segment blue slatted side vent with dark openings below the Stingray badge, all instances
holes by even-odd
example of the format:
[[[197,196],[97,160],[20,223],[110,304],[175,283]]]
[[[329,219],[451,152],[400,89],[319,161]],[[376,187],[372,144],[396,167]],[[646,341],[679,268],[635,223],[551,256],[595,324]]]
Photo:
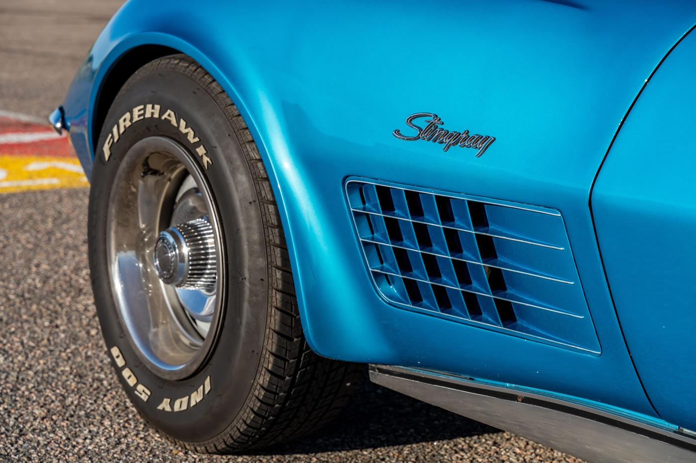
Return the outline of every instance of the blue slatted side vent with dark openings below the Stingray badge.
[[[391,304],[599,355],[555,209],[358,179],[346,193]]]

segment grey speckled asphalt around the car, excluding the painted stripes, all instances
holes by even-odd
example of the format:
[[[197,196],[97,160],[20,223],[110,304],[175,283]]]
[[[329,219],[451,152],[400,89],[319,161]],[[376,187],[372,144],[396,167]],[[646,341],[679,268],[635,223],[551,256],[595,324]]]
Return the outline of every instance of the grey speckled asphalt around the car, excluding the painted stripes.
[[[3,0],[0,115],[45,117],[60,104],[119,4]],[[0,171],[2,155],[0,144]],[[366,380],[332,425],[264,453],[173,446],[138,416],[111,370],[89,283],[88,189],[73,186],[0,194],[1,461],[580,461]]]

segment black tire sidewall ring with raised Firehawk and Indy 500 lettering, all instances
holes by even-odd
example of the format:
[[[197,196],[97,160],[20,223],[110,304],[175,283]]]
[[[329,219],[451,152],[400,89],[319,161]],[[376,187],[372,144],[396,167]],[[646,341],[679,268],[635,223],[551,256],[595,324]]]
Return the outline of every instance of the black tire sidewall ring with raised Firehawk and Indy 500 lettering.
[[[153,108],[159,105],[159,117],[152,113],[151,117],[139,119],[139,106],[143,106],[144,111],[148,104]],[[221,101],[191,75],[146,65],[120,90],[106,116],[97,141],[90,186],[90,273],[111,363],[141,414],[170,437],[189,442],[214,439],[244,409],[247,397],[253,393],[251,387],[255,384],[264,345],[267,249],[257,187],[242,144],[230,124],[236,113],[234,106],[230,106],[222,106]],[[171,117],[163,118],[168,111],[173,113],[176,124]],[[126,114],[130,114],[129,120],[138,120],[121,131],[119,122]],[[195,137],[180,129],[181,120],[185,120]],[[118,131],[116,142],[113,142],[113,127]],[[207,363],[197,373],[180,381],[164,380],[141,362],[120,322],[107,263],[107,204],[116,172],[129,148],[147,136],[164,136],[177,141],[198,163],[216,204],[225,242],[227,284],[223,291],[219,336]],[[102,147],[109,137],[113,143],[107,160]],[[191,138],[197,140],[192,143]],[[201,146],[209,162],[197,154]],[[118,348],[125,364],[117,362],[114,347]],[[129,373],[124,373],[126,368],[136,378],[135,384]],[[147,400],[143,400],[139,384],[150,391]],[[191,394],[200,392],[201,387],[205,391],[203,400],[190,406]],[[186,407],[182,407],[187,397]],[[169,399],[168,407],[164,406],[166,399]],[[177,400],[179,409],[175,411]]]

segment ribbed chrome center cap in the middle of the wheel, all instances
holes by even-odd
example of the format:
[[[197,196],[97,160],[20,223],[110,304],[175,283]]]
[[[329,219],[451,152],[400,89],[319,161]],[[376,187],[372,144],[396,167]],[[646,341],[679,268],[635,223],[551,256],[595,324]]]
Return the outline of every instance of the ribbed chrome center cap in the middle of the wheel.
[[[216,281],[213,230],[205,219],[169,227],[159,234],[154,252],[159,279],[179,288],[212,290]]]

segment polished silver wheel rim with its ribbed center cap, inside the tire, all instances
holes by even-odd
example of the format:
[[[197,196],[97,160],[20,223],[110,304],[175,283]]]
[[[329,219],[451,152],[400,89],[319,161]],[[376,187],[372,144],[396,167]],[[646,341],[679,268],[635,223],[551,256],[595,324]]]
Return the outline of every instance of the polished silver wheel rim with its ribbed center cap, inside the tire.
[[[216,341],[225,287],[209,186],[193,156],[159,136],[128,150],[113,185],[106,240],[119,318],[152,371],[189,377]]]

